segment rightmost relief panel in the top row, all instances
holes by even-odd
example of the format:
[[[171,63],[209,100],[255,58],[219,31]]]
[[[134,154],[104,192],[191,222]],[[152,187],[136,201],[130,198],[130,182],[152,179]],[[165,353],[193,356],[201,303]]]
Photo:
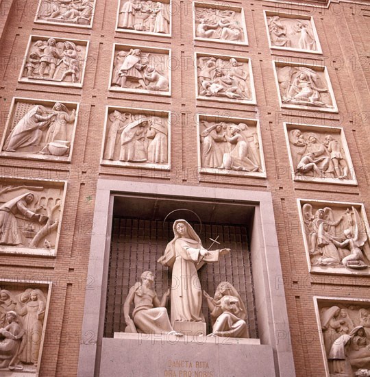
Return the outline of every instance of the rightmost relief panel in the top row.
[[[312,16],[264,11],[271,49],[322,53]]]

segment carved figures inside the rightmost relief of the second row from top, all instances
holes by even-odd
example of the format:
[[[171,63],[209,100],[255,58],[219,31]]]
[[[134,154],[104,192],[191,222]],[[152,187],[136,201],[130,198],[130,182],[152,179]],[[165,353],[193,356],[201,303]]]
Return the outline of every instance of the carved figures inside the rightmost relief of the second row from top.
[[[284,104],[333,108],[326,83],[313,69],[302,66],[284,66],[277,71],[280,93]]]

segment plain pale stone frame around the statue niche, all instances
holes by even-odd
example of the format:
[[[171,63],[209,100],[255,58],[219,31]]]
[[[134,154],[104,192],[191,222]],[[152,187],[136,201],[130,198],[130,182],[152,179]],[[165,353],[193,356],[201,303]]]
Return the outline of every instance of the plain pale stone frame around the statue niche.
[[[97,182],[94,228],[88,263],[89,284],[86,286],[77,376],[99,376],[113,202],[114,195],[120,194],[127,197],[153,195],[177,200],[186,197],[188,200],[208,199],[223,203],[237,201],[240,205],[255,207],[254,220],[250,228],[250,252],[255,277],[254,293],[260,341],[262,345],[269,345],[273,351],[275,375],[295,376],[271,193],[103,179]]]

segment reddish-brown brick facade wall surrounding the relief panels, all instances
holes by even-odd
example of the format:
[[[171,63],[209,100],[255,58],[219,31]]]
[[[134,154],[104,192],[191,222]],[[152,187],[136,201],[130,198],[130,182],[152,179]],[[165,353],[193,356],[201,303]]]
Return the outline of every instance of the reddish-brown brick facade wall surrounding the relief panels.
[[[211,2],[211,1],[210,1]],[[68,182],[56,257],[0,255],[1,278],[53,282],[40,376],[75,376],[87,276],[90,237],[99,178],[268,191],[273,197],[282,277],[297,376],[325,376],[313,296],[370,299],[368,276],[312,274],[308,271],[297,199],[363,203],[370,212],[370,6],[366,2],[223,1],[243,7],[248,46],[194,40],[190,1],[172,3],[172,35],[116,32],[117,1],[96,0],[92,28],[34,23],[38,0],[0,3],[0,132],[13,97],[79,103],[71,162],[0,158],[0,175]],[[313,16],[322,54],[269,48],[264,10]],[[30,35],[88,40],[82,88],[18,82]],[[114,43],[171,49],[171,96],[109,90]],[[195,52],[247,57],[257,104],[204,101],[195,97]],[[280,108],[273,61],[326,66],[338,112]],[[171,169],[100,165],[106,106],[171,112]],[[199,173],[197,114],[258,119],[267,178]],[[342,127],[358,184],[293,182],[284,122]],[[86,340],[86,339],[85,339]],[[221,376],[220,376],[221,377]],[[223,377],[223,376],[222,376]]]

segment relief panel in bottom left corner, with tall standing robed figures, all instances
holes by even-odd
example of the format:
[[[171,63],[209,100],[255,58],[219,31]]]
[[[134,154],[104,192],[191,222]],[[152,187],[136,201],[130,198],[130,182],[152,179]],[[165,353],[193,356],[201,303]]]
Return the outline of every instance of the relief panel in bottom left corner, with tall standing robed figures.
[[[51,284],[0,281],[0,374],[37,376]]]

